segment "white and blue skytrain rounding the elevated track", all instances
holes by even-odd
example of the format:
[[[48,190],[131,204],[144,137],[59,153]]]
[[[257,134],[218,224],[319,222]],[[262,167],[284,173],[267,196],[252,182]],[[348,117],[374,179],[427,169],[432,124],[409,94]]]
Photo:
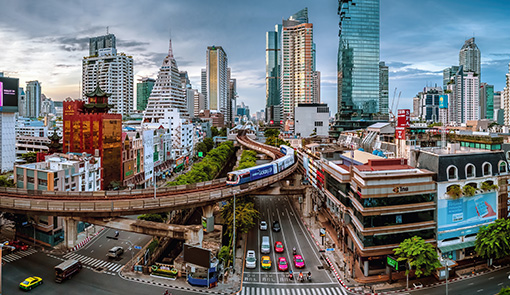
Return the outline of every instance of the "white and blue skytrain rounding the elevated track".
[[[227,174],[227,185],[240,185],[264,177],[275,175],[294,164],[294,149],[282,145],[280,151],[285,155],[268,164],[232,171]]]

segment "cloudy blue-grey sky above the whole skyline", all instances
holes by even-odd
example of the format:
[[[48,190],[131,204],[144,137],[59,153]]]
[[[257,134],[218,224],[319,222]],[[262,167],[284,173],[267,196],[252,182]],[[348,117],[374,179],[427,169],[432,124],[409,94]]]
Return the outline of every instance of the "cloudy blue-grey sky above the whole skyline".
[[[156,77],[172,38],[180,70],[200,89],[207,46],[223,46],[239,101],[252,112],[265,105],[265,32],[308,7],[322,75],[322,101],[336,112],[337,0],[0,0],[0,72],[39,80],[55,100],[79,97],[81,60],[88,38],[117,37],[132,55],[135,80]],[[458,65],[458,51],[475,36],[482,52],[482,80],[502,90],[510,62],[510,1],[381,0],[381,60],[390,66],[399,108],[425,86],[442,83],[442,69]]]

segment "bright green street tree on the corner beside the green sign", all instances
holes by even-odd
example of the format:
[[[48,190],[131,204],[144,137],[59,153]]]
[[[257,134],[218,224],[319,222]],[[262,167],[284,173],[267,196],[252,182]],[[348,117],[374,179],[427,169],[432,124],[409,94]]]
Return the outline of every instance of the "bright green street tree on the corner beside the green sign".
[[[405,239],[398,248],[393,249],[393,252],[395,252],[398,261],[406,262],[408,280],[411,269],[414,269],[416,276],[420,277],[422,274],[428,276],[441,267],[434,246],[418,236]]]

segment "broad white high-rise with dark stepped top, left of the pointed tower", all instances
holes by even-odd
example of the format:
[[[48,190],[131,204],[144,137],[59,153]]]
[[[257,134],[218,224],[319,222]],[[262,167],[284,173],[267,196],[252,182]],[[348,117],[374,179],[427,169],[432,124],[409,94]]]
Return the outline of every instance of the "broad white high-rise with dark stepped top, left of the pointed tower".
[[[96,38],[108,36],[110,35]],[[90,48],[90,52],[97,51],[97,54],[83,58],[82,94],[85,96],[93,92],[99,85],[101,89],[111,93],[109,98],[109,102],[113,105],[111,111],[128,116],[133,112],[133,58],[124,53],[117,53],[115,36],[106,38],[105,40],[110,41],[103,43],[93,39],[91,38],[91,45],[97,45],[98,48]],[[101,47],[103,45],[104,47]]]

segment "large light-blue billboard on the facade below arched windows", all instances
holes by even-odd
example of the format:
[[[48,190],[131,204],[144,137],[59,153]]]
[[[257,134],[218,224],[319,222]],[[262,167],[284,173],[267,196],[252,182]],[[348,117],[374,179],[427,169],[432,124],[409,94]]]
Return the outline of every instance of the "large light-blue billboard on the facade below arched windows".
[[[479,226],[498,218],[497,193],[488,192],[456,200],[437,201],[438,240],[478,232]]]

